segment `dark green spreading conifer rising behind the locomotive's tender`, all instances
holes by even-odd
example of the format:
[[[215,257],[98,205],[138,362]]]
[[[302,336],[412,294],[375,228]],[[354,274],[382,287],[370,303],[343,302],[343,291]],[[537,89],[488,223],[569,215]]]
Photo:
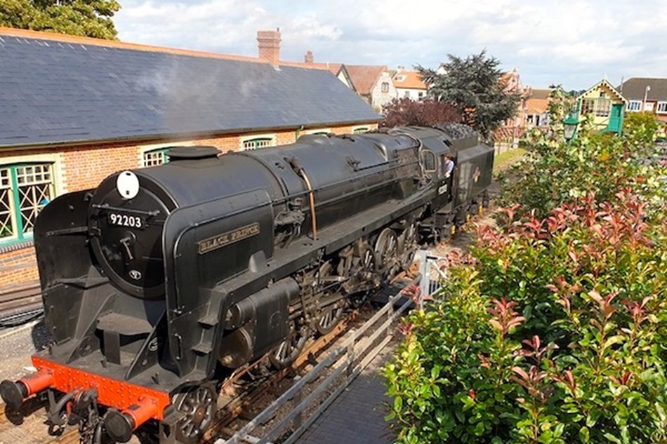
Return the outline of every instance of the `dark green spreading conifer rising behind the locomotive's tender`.
[[[417,67],[429,86],[428,94],[453,104],[463,116],[463,123],[488,138],[503,121],[515,115],[520,95],[505,90],[499,62],[487,57],[485,50],[465,59],[451,54],[448,57],[449,62],[442,64],[444,74]]]

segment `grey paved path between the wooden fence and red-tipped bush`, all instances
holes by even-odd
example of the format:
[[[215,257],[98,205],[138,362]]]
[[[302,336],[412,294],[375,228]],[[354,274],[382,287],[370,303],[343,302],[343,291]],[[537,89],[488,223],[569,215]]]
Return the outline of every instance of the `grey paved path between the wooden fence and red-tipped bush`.
[[[329,408],[303,433],[297,444],[390,444],[393,433],[383,417],[389,398],[380,368],[387,361],[391,344],[341,393]]]

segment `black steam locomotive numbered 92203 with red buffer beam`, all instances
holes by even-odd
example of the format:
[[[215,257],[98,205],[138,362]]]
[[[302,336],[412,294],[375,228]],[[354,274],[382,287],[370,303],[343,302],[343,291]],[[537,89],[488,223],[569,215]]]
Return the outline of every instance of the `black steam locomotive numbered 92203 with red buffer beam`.
[[[456,161],[444,170],[444,155]],[[65,194],[34,231],[47,350],[4,381],[18,408],[48,396],[52,426],[126,442],[143,424],[194,443],[219,368],[289,365],[350,301],[486,203],[494,151],[463,126],[400,128],[170,161]]]

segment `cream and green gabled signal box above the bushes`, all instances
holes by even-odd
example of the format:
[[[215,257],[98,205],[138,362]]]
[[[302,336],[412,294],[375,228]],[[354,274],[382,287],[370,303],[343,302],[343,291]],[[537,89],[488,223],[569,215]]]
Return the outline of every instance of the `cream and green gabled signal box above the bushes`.
[[[621,134],[626,105],[626,97],[607,79],[602,79],[576,97],[576,114],[573,117],[581,121],[584,116],[588,116],[593,120],[595,130]]]

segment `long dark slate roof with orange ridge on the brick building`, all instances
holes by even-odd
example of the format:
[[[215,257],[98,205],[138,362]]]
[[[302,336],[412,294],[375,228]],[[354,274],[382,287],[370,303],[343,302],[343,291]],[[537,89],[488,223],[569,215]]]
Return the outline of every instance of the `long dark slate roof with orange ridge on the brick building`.
[[[0,147],[381,119],[322,69],[0,28]]]

